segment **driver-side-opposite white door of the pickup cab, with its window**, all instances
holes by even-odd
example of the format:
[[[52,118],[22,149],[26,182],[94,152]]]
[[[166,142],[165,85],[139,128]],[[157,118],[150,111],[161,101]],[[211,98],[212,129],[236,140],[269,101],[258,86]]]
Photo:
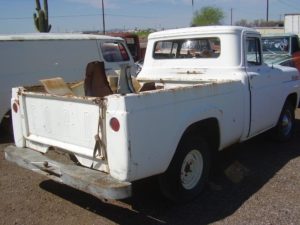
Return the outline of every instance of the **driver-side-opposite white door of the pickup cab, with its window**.
[[[245,38],[246,71],[250,89],[250,131],[254,136],[274,126],[280,113],[280,71],[262,62],[259,36]]]

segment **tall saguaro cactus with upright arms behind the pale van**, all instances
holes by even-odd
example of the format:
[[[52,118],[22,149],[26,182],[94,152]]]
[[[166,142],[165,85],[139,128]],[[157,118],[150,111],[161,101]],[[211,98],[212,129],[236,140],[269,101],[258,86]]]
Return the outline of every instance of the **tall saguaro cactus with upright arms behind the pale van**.
[[[37,13],[33,14],[33,20],[36,29],[39,32],[48,33],[51,30],[51,25],[48,20],[48,2],[44,0],[44,9],[41,9],[40,0],[35,0]]]

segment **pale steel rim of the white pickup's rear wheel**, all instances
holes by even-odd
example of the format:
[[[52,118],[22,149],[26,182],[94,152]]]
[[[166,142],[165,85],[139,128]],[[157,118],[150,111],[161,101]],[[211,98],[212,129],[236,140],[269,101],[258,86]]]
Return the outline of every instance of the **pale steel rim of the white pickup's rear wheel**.
[[[190,151],[184,158],[181,166],[181,184],[182,186],[190,190],[194,188],[203,172],[203,157],[198,150]]]

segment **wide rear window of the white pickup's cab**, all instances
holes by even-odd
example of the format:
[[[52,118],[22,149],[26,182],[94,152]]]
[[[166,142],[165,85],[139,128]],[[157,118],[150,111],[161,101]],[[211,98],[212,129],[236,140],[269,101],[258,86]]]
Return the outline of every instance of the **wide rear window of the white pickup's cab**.
[[[218,58],[221,43],[217,37],[158,41],[154,45],[154,59]]]

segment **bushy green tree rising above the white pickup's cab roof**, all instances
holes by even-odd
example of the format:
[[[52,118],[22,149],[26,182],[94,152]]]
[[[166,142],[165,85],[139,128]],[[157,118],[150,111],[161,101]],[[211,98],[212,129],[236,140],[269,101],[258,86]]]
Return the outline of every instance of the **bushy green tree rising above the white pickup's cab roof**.
[[[224,12],[217,7],[203,7],[194,13],[192,26],[219,25],[224,19]]]

